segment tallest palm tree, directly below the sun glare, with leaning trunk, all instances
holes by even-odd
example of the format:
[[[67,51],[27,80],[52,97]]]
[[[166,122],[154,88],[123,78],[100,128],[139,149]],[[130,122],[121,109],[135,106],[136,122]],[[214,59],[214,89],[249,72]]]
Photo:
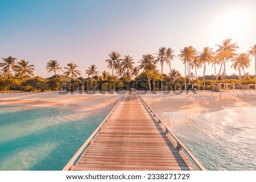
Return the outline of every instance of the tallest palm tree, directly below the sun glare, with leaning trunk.
[[[222,66],[224,67],[224,69],[222,72],[221,81],[223,80],[224,77],[226,78],[226,62],[234,57],[235,55],[234,52],[236,51],[236,49],[239,48],[237,46],[237,43],[231,43],[231,41],[232,39],[225,39],[224,41],[222,41],[222,45],[216,45],[218,46],[218,49],[216,50],[216,52],[217,52],[217,56],[221,60],[221,67],[220,67],[220,70],[218,71],[218,75],[215,79],[214,85],[217,83],[218,78],[220,77]],[[214,91],[214,85],[213,85],[212,91]]]

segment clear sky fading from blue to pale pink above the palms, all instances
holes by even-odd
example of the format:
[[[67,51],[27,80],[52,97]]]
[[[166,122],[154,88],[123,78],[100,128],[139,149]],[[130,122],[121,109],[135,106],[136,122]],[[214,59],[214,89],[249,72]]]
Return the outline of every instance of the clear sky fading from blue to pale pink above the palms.
[[[162,46],[177,56],[185,46],[216,50],[232,38],[243,53],[256,44],[255,10],[255,0],[0,0],[0,57],[29,61],[44,78],[53,75],[46,71],[49,60],[62,67],[74,62],[86,78],[92,64],[111,72],[105,60],[112,51],[138,65],[143,54],[155,55]],[[230,66],[227,74],[238,74]],[[178,57],[172,68],[184,74]],[[213,67],[206,72],[213,74]],[[254,61],[246,72],[255,74]],[[170,73],[167,65],[163,73]]]

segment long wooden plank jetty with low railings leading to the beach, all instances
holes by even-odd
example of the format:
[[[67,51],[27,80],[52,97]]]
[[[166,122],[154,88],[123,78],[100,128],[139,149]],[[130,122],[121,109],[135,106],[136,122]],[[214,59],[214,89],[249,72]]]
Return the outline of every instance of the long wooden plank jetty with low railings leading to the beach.
[[[141,96],[130,93],[118,101],[63,170],[196,169],[205,170]]]

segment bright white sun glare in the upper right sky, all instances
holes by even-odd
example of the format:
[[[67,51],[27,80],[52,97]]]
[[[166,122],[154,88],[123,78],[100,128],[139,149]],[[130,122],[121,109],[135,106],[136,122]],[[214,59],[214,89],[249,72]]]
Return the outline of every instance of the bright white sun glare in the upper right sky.
[[[229,11],[217,17],[212,27],[212,39],[240,40],[250,31],[250,16],[246,11]]]

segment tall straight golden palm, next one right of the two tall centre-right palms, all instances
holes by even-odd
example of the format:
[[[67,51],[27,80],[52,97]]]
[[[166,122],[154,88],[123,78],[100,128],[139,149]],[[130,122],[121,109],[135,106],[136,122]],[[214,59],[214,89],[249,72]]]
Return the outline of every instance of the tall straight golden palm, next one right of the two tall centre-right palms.
[[[193,60],[193,58],[196,56],[196,49],[192,46],[186,46],[184,49],[180,50],[180,53],[178,57],[183,61],[183,64],[185,65],[185,90],[187,90],[186,87],[186,69],[188,70],[188,75],[190,75],[190,62]],[[187,64],[187,67],[186,67]],[[190,78],[188,76],[188,85],[190,84]]]

